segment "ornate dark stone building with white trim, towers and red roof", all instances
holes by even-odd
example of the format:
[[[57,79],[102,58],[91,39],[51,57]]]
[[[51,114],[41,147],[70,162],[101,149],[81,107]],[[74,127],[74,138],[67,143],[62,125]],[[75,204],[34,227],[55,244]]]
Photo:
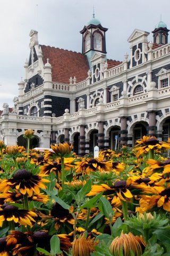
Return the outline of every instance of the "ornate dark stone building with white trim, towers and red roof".
[[[40,45],[30,31],[30,56],[25,78],[18,83],[13,111],[0,117],[1,140],[23,145],[32,129],[31,147],[73,143],[84,155],[126,145],[143,135],[170,137],[170,44],[160,21],[149,33],[135,29],[128,38],[124,61],[107,59],[107,28],[93,17],[80,31],[82,53]]]

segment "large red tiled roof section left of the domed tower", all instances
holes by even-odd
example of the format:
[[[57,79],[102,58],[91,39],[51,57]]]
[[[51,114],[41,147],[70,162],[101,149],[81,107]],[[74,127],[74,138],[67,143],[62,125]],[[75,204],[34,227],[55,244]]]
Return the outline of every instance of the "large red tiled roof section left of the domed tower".
[[[52,82],[69,84],[70,77],[75,76],[79,83],[88,77],[89,65],[86,55],[51,46],[40,46],[44,65],[47,59],[52,65]]]

